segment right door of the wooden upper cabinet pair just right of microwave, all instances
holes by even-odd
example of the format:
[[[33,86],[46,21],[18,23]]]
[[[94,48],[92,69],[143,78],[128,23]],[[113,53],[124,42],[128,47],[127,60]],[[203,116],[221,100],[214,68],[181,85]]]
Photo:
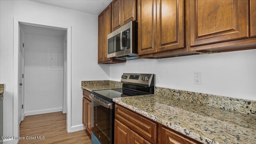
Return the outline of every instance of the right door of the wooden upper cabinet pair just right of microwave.
[[[184,0],[158,0],[157,52],[184,48]]]

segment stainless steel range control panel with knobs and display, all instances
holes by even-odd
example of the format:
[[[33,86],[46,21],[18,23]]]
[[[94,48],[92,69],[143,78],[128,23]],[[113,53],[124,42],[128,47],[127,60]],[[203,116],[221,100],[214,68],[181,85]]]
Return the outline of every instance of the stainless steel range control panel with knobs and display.
[[[121,77],[121,82],[125,84],[134,84],[150,87],[154,84],[154,74],[127,74]]]

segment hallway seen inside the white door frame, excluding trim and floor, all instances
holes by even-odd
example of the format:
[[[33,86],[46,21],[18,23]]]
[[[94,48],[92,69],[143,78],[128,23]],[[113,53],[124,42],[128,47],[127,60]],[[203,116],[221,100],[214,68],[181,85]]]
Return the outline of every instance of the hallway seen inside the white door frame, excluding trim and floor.
[[[67,31],[20,24],[19,124],[25,116],[66,114]]]

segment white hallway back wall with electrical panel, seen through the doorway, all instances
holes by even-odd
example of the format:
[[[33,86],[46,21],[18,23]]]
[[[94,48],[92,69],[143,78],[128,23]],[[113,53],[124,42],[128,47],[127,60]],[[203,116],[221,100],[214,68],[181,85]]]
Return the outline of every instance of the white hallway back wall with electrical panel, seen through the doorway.
[[[26,34],[25,115],[62,111],[64,38]],[[58,70],[50,68],[49,47],[59,49]]]

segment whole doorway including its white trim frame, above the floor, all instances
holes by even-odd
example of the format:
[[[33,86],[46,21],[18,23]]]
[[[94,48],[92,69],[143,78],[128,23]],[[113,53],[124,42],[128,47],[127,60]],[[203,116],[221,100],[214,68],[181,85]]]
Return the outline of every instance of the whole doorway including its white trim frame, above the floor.
[[[51,112],[71,132],[71,26],[14,18],[13,44],[13,136],[25,116]]]

